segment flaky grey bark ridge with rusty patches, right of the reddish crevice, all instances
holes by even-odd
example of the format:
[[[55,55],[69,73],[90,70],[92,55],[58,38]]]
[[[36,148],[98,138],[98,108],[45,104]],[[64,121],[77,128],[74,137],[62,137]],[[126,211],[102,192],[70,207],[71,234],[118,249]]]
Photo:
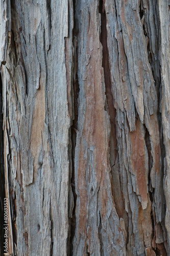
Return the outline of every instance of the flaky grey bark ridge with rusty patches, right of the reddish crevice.
[[[147,59],[148,56],[145,57],[143,54],[147,49],[147,39],[145,38],[145,35],[144,37],[142,35],[143,11],[139,10],[137,1],[134,4],[129,1],[126,3],[118,1],[112,1],[112,3],[109,3],[109,1],[105,1],[105,9],[107,18],[111,81],[113,84],[112,92],[114,95],[117,112],[116,120],[118,128],[117,141],[119,148],[118,153],[120,164],[120,180],[125,199],[125,208],[129,217],[130,214],[128,210],[128,202],[130,202],[132,211],[132,220],[129,219],[127,227],[130,227],[132,221],[132,225],[137,228],[136,221],[138,220],[138,236],[136,234],[133,236],[133,232],[131,232],[129,229],[130,233],[128,236],[129,242],[127,244],[127,250],[129,251],[131,248],[131,252],[129,251],[129,253],[142,253],[145,247],[145,253],[149,253],[149,251],[152,253],[153,249],[155,249],[155,246],[160,248],[162,247],[161,243],[165,242],[166,238],[163,238],[165,236],[165,233],[162,230],[163,227],[159,227],[160,230],[162,230],[161,239],[158,239],[160,234],[157,233],[157,227],[160,226],[159,222],[162,221],[163,225],[164,217],[163,213],[161,215],[160,212],[162,207],[164,207],[164,196],[161,189],[162,167],[159,145],[159,124],[157,119],[157,91],[155,90],[155,85],[153,82],[152,69]],[[131,19],[130,13],[132,17]],[[141,33],[141,35],[134,37],[135,33]],[[140,56],[137,53],[139,51],[141,51]],[[133,70],[133,67],[135,67],[136,63],[138,63],[139,73],[137,73],[137,70]],[[150,77],[148,82],[150,84],[151,79],[152,91],[148,90],[150,86],[148,87],[147,85],[148,78],[145,78],[147,76],[144,74],[144,67],[147,67],[147,76]],[[135,73],[134,76],[133,72]],[[135,80],[136,86],[134,87]],[[125,97],[128,91],[129,96]],[[138,95],[137,97],[136,93]],[[141,94],[143,94],[142,100]],[[131,100],[131,103],[129,100]],[[135,109],[137,110],[137,116],[134,115]],[[131,115],[129,113],[131,113]],[[132,118],[128,118],[128,115]],[[134,121],[134,117],[136,121]],[[144,141],[145,127],[143,127],[143,123],[147,126],[147,130],[151,138],[151,150],[153,154],[153,166],[151,168],[151,180],[155,189],[155,193],[153,194],[153,205],[149,198],[149,156],[147,145],[145,144],[146,141]],[[158,138],[156,138],[155,134],[158,136]],[[142,157],[142,155],[144,157]],[[125,185],[125,180],[127,179],[128,186]],[[131,204],[133,200],[136,201],[135,204]],[[153,210],[156,212],[154,219],[156,226],[154,241],[156,239],[157,245],[154,244],[154,248],[152,248],[153,231],[151,221],[151,207],[153,207]],[[138,217],[136,221],[134,221],[134,216],[137,215]],[[146,225],[146,222],[144,221],[145,218],[148,220],[148,225]],[[148,229],[147,232],[143,232],[144,229]],[[135,248],[132,249],[133,243]],[[164,251],[164,249],[162,249],[162,251]]]

